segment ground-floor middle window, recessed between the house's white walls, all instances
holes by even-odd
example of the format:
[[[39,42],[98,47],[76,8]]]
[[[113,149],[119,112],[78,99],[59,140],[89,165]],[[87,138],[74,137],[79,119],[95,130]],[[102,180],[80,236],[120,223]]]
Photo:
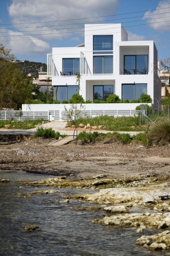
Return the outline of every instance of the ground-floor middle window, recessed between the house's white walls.
[[[113,94],[113,85],[94,85],[93,99],[106,100],[110,94]]]

